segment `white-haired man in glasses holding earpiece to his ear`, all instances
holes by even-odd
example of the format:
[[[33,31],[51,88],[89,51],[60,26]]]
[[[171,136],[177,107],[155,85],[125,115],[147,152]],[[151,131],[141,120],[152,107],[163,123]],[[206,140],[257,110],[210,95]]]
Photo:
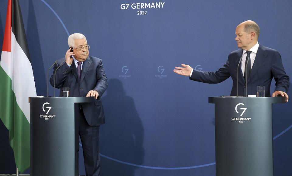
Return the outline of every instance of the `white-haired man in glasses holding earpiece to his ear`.
[[[81,103],[79,106],[79,136],[82,142],[85,172],[87,176],[99,176],[99,126],[105,123],[103,105],[100,97],[107,88],[107,78],[103,62],[97,57],[89,56],[89,45],[83,34],[74,33],[68,37],[65,58],[57,61],[50,83],[55,87],[70,88],[71,97],[95,97],[92,103]],[[72,57],[71,57],[72,56]],[[60,64],[65,60],[65,63]],[[60,68],[57,70],[57,67]]]

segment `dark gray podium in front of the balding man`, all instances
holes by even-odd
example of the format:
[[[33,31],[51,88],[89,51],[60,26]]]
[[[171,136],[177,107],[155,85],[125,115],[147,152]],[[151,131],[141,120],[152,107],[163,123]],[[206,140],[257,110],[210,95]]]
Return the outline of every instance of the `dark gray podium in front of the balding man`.
[[[285,97],[209,97],[216,176],[273,176],[272,104]]]

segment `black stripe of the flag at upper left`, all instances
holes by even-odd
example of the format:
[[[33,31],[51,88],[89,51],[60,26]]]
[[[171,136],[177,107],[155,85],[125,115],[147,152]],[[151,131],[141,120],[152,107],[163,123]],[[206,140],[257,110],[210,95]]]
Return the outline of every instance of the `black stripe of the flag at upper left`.
[[[22,48],[28,60],[30,60],[30,52],[27,46],[25,30],[23,26],[23,19],[21,15],[20,5],[18,0],[12,0],[12,19],[11,19],[12,33],[14,34],[17,43]]]

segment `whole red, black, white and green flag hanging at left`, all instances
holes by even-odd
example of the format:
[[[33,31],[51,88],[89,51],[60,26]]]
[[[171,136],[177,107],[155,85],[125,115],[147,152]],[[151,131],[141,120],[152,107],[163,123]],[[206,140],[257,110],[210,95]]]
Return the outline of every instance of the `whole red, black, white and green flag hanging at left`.
[[[30,105],[36,97],[33,70],[18,0],[8,0],[0,60],[0,118],[9,130],[17,168],[30,167]]]

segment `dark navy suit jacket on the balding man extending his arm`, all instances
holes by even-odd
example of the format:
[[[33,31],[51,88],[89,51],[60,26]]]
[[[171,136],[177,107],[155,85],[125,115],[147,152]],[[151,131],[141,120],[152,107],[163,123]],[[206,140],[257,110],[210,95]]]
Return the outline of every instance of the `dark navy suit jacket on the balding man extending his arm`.
[[[231,76],[233,85],[230,95],[237,95],[237,66],[242,57],[242,49],[231,52],[228,60],[222,68],[216,72],[193,70],[189,78],[204,83],[220,83]],[[245,95],[245,79],[241,70],[238,69],[238,95]],[[272,79],[276,81],[275,91],[288,91],[289,76],[286,74],[280,53],[274,49],[259,45],[249,78],[247,79],[248,95],[256,95],[256,86],[265,86],[265,96],[270,97],[270,85]]]

